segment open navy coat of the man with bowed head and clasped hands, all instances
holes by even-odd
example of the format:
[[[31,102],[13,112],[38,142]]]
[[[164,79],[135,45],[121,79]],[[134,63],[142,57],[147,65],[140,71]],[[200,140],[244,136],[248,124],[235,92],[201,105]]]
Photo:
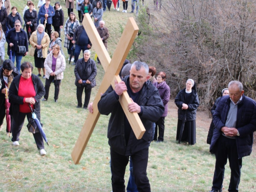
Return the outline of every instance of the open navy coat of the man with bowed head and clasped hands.
[[[240,136],[236,137],[238,157],[242,158],[251,154],[253,132],[256,131],[256,102],[245,95],[238,103],[236,129]],[[222,134],[221,128],[225,126],[230,108],[229,96],[221,97],[214,113],[214,136],[211,139],[210,152],[215,151],[215,144]]]

